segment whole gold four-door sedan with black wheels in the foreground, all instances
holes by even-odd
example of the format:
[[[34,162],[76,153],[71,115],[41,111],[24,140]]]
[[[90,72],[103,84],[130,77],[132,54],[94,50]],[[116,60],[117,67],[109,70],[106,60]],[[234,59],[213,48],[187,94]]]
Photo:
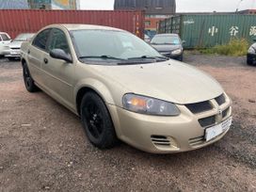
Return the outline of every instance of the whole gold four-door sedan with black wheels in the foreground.
[[[117,28],[49,25],[23,43],[22,65],[25,88],[80,116],[101,149],[120,139],[146,152],[191,151],[232,124],[232,101],[214,78]]]

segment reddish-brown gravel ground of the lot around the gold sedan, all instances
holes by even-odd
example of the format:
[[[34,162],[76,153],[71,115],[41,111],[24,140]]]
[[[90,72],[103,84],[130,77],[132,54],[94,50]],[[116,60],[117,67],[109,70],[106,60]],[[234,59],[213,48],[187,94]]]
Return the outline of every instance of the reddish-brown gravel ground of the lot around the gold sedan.
[[[256,67],[245,57],[186,55],[233,101],[231,131],[207,148],[140,152],[91,146],[80,120],[24,89],[20,62],[0,60],[0,191],[256,191]]]

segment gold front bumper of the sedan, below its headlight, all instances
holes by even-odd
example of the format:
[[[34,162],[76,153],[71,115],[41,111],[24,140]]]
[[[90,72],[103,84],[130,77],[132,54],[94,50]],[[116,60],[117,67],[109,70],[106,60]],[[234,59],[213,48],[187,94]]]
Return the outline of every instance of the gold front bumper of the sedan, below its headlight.
[[[227,116],[216,124],[228,120],[232,115],[232,102],[229,100],[220,109],[229,108]],[[108,105],[118,137],[124,142],[145,152],[174,153],[187,152],[210,145],[225,136],[229,129],[212,140],[206,141],[205,128],[199,119],[218,113],[217,109],[205,114],[192,114],[184,105],[179,105],[178,117],[155,117],[133,113],[114,105]],[[168,144],[168,145],[167,145]]]

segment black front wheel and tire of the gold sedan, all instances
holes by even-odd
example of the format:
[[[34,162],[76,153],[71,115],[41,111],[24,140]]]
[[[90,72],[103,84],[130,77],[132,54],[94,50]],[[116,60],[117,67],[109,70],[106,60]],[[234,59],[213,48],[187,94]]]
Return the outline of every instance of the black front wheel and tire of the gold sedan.
[[[88,140],[100,149],[116,145],[118,138],[104,101],[94,92],[85,94],[81,106],[81,120]]]

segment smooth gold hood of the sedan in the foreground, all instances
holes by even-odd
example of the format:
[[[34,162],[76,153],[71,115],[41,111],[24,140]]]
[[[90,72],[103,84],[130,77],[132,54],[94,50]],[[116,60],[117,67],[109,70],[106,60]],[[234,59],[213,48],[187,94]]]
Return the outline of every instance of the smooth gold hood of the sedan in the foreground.
[[[93,68],[100,70],[104,78],[120,84],[123,88],[120,94],[133,92],[174,104],[194,104],[223,93],[214,78],[178,61],[126,66],[95,65]]]

